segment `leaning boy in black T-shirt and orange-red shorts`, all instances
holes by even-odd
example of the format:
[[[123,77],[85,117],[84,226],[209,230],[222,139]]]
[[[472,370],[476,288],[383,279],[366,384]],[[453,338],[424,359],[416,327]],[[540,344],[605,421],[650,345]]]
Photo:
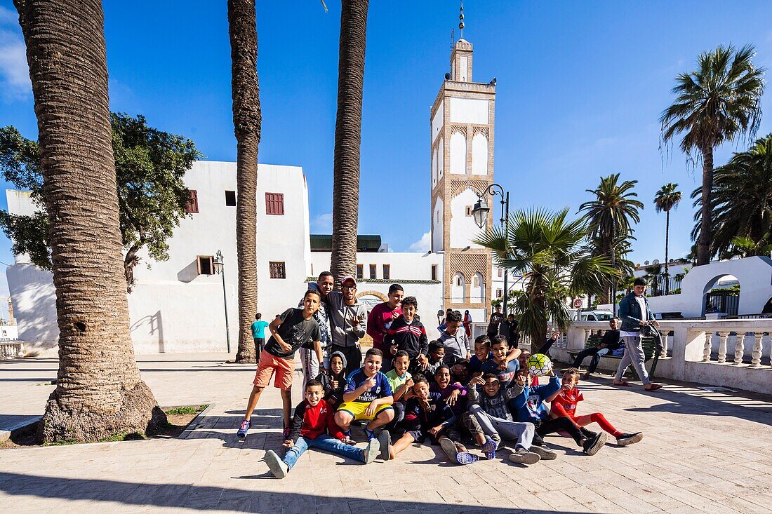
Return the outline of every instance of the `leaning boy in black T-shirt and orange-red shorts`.
[[[257,407],[262,390],[271,381],[271,376],[276,374],[273,387],[281,390],[282,404],[284,407],[284,438],[289,436],[289,420],[292,410],[292,377],[295,371],[295,352],[303,346],[307,340],[313,341],[314,351],[319,360],[322,360],[322,347],[320,343],[319,323],[313,319],[313,313],[319,309],[320,295],[316,291],[308,290],[303,296],[303,309],[290,307],[284,313],[273,320],[268,330],[271,337],[266,347],[260,353],[257,364],[257,373],[252,382],[252,392],[246,404],[246,413],[241,428],[237,432],[239,439],[246,437],[249,427],[252,425],[252,411]]]

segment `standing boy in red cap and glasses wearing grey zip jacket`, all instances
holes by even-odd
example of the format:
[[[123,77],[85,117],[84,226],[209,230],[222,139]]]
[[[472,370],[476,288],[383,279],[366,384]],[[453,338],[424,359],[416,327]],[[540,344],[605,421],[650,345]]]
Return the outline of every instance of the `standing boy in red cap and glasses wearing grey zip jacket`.
[[[346,357],[346,376],[358,370],[362,364],[359,340],[367,330],[367,309],[357,302],[357,281],[353,276],[344,277],[340,291],[327,295],[327,315],[332,330],[332,352]]]

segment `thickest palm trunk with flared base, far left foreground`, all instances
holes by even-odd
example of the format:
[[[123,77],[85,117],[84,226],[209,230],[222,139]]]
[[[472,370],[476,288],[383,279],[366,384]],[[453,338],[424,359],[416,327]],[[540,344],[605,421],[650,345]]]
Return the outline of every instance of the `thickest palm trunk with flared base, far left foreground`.
[[[129,334],[102,2],[14,4],[38,118],[59,325],[56,389],[38,436],[154,431],[166,417],[140,378]]]

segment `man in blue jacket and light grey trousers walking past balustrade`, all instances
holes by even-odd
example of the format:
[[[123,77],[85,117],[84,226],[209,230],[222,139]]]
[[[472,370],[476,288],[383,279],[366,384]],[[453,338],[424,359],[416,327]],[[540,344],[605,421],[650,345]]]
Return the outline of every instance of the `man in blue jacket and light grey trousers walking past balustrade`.
[[[625,296],[619,303],[619,317],[622,320],[619,335],[625,342],[625,357],[622,357],[619,362],[613,384],[630,387],[630,383],[623,380],[622,377],[632,364],[638,377],[641,377],[643,388],[646,391],[656,391],[662,387],[662,384],[655,384],[648,378],[648,372],[644,366],[645,357],[641,341],[641,329],[645,325],[659,326],[659,322],[654,319],[652,309],[648,308],[645,293],[645,279],[635,279],[632,293]]]

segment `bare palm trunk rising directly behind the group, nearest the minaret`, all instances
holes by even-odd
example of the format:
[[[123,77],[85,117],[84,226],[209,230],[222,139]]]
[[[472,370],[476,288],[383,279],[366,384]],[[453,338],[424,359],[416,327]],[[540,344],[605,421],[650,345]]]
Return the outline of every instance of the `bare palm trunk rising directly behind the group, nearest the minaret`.
[[[340,10],[337,119],[330,269],[340,283],[354,276],[359,215],[359,150],[362,129],[367,0],[343,0]]]

